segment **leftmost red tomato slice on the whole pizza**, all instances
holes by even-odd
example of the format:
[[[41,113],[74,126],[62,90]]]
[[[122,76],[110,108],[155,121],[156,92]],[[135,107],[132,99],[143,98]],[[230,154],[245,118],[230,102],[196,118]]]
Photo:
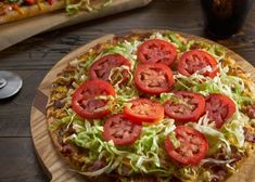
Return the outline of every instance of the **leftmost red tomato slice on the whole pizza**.
[[[103,80],[88,80],[73,94],[72,106],[75,113],[82,118],[101,118],[109,114],[109,109],[102,109],[106,100],[97,99],[99,95],[115,95],[114,88]]]

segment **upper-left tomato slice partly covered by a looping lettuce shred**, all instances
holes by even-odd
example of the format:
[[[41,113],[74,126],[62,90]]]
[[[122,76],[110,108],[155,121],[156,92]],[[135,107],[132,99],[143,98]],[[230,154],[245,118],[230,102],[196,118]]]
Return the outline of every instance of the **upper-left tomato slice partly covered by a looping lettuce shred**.
[[[89,69],[89,76],[92,79],[102,79],[109,81],[109,76],[114,67],[126,65],[130,68],[130,63],[127,58],[119,54],[109,54],[95,61]],[[122,73],[124,80],[128,79],[127,70]]]

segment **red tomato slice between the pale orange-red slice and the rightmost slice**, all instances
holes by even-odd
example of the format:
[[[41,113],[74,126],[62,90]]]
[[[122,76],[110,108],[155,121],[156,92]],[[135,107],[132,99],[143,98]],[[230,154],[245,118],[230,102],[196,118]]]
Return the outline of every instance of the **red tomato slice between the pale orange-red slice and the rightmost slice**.
[[[205,109],[205,99],[199,93],[178,91],[165,104],[165,114],[176,121],[197,121]]]

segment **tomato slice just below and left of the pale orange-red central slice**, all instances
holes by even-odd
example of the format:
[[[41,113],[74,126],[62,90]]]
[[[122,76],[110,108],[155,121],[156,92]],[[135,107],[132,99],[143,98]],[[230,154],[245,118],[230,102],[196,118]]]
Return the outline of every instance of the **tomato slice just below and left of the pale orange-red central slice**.
[[[129,145],[139,139],[141,130],[141,125],[136,125],[123,114],[117,114],[105,120],[103,139],[112,140],[115,145]]]

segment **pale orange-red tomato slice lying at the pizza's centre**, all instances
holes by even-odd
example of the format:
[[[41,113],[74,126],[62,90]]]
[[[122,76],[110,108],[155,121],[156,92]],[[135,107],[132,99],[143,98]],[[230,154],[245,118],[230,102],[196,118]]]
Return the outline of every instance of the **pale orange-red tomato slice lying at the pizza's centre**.
[[[148,99],[137,99],[130,102],[131,107],[124,108],[124,115],[136,123],[154,122],[164,118],[164,107]]]

